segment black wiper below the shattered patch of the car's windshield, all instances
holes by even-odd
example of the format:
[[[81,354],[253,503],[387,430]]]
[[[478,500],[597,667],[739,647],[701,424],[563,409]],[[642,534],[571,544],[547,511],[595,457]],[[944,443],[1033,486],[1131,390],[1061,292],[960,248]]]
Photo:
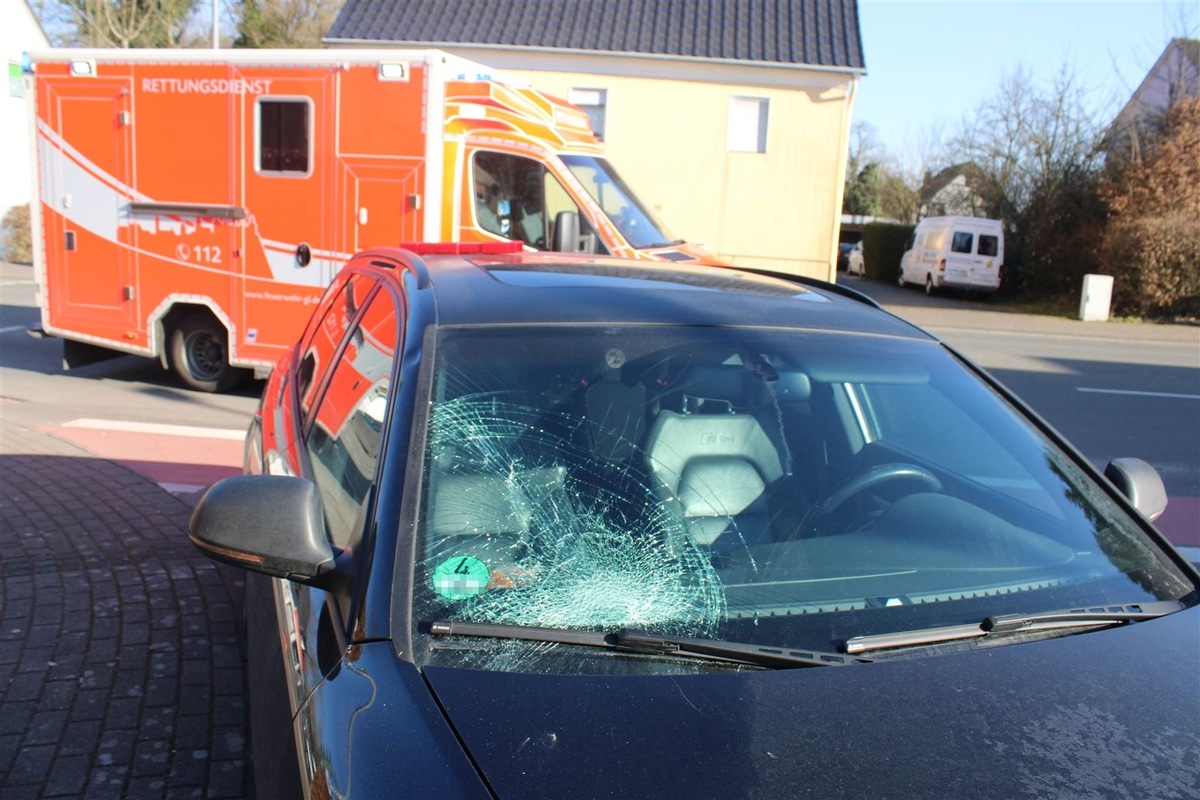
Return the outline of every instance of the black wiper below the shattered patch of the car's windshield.
[[[618,652],[642,655],[691,656],[710,661],[790,669],[794,667],[842,667],[868,662],[870,658],[845,656],[820,650],[792,650],[790,648],[766,648],[757,644],[721,642],[719,639],[692,639],[646,631],[571,631],[559,627],[532,627],[527,625],[502,625],[497,622],[457,622],[438,620],[430,625],[433,636],[479,636],[493,639],[522,639],[526,642],[553,642],[558,644],[582,644],[605,648]]]

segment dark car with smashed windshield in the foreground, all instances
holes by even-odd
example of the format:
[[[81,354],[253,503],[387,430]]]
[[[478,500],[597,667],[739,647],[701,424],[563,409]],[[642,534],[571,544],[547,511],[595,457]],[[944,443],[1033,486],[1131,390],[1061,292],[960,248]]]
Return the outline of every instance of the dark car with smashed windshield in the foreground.
[[[431,249],[340,272],[191,521],[259,573],[260,796],[1195,789],[1147,464],[842,287]]]

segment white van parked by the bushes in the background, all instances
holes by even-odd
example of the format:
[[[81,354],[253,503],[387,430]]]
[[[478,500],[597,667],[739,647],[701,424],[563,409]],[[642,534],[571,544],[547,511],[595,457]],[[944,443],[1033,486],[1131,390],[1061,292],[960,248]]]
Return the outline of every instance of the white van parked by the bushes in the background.
[[[1000,219],[925,217],[900,259],[900,285],[992,293],[1004,276],[1004,229]]]

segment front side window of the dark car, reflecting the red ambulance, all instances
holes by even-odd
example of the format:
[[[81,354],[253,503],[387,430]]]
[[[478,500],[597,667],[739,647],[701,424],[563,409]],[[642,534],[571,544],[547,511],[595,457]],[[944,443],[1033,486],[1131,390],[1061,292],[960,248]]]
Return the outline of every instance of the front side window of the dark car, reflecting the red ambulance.
[[[350,543],[374,479],[400,333],[396,302],[379,290],[350,331],[306,439],[330,540]]]

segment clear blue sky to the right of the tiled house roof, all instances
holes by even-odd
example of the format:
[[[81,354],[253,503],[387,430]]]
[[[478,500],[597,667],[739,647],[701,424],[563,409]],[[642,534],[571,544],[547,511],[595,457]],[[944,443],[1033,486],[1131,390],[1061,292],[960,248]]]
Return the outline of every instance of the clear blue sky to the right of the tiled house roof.
[[[1198,0],[858,0],[868,74],[854,121],[912,157],[1018,68],[1039,86],[1066,65],[1097,110],[1115,114],[1172,36],[1198,36]]]

